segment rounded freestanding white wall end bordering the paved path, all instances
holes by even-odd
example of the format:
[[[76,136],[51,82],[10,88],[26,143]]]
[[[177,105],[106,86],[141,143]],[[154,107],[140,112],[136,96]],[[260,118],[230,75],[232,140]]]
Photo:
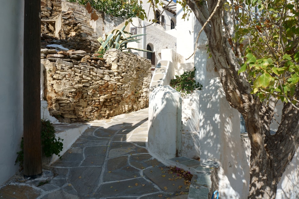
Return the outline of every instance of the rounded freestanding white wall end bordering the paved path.
[[[170,86],[157,87],[149,95],[148,148],[162,158],[176,157],[181,136],[181,94]],[[177,134],[179,132],[179,134]]]

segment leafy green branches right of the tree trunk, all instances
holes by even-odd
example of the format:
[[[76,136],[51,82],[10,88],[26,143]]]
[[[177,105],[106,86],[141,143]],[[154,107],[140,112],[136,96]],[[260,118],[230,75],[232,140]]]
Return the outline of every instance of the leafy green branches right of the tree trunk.
[[[238,74],[246,72],[251,93],[261,100],[274,96],[295,107],[299,102],[294,96],[299,82],[298,7],[285,1],[255,1],[248,10],[257,12],[240,12],[242,9],[235,5],[239,24],[232,38],[234,43],[241,41],[245,49]]]

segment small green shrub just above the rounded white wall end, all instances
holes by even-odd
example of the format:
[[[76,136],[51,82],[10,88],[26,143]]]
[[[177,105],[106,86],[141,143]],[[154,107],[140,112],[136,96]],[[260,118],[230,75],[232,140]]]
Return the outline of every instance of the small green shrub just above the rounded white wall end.
[[[196,83],[195,67],[193,71],[185,71],[182,75],[176,75],[175,79],[170,80],[170,86],[181,92],[182,95],[187,95],[193,90],[202,90],[202,84]]]

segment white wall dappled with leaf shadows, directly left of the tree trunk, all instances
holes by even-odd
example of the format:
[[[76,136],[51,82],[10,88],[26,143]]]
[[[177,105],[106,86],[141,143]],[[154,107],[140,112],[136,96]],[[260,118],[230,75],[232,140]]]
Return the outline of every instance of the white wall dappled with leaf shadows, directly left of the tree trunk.
[[[202,89],[199,107],[201,161],[216,159],[221,165],[214,187],[222,198],[246,198],[249,159],[241,144],[239,112],[226,101],[219,78]]]

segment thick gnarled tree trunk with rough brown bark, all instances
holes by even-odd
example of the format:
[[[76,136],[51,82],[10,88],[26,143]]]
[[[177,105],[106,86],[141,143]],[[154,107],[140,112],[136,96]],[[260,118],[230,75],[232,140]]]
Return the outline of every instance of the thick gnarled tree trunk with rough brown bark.
[[[217,0],[186,0],[202,26],[214,12]],[[238,75],[239,60],[228,42],[228,32],[223,33],[222,13],[224,0],[210,19],[204,31],[219,73],[226,99],[244,117],[251,142],[250,184],[248,198],[272,199],[276,197],[277,184],[299,147],[299,116],[291,104],[284,104],[282,121],[275,135],[270,135],[273,110],[251,94],[245,76]],[[223,24],[222,24],[223,23]],[[229,30],[227,28],[226,30]],[[296,96],[299,95],[298,85]],[[292,119],[290,119],[292,118]]]

